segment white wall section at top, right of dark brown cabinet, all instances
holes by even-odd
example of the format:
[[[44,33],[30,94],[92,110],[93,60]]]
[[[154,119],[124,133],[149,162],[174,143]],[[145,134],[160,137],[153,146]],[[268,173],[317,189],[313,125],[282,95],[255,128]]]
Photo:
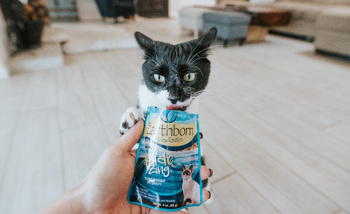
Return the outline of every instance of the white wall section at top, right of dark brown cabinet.
[[[214,7],[216,0],[169,0],[169,17],[177,17],[181,8],[195,5]]]

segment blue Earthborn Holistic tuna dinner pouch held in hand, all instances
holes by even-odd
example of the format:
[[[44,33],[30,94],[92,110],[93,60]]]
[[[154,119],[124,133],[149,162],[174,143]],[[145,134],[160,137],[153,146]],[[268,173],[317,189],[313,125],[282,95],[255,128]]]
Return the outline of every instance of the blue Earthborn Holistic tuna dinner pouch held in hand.
[[[198,115],[148,107],[128,201],[162,211],[202,204]]]

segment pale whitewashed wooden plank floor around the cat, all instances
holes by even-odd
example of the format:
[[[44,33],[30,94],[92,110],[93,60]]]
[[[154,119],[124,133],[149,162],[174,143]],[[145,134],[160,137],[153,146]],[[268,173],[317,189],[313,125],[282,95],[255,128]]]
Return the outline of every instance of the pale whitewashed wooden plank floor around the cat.
[[[128,31],[179,43],[177,20]],[[0,81],[0,213],[37,213],[77,185],[137,102],[137,49],[65,56],[60,69]],[[212,204],[190,213],[350,214],[350,62],[268,36],[215,47],[200,127]]]

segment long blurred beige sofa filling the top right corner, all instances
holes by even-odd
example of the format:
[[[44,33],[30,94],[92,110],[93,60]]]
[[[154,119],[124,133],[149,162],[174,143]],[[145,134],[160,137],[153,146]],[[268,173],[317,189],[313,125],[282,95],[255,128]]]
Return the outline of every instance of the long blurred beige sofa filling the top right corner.
[[[276,0],[267,4],[226,1],[248,7],[284,9],[292,12],[289,25],[270,30],[315,39],[320,52],[350,56],[350,0]]]

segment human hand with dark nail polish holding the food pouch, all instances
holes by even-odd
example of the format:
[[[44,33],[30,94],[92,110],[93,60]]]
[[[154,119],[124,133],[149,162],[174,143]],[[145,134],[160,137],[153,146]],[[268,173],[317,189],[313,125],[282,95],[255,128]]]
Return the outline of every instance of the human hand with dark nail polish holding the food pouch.
[[[148,207],[130,204],[127,200],[129,186],[132,182],[137,150],[131,150],[138,143],[144,128],[144,120],[138,121],[120,139],[108,147],[98,159],[86,178],[74,189],[57,199],[43,213],[131,213],[162,214]],[[207,179],[210,170],[201,166],[201,177]],[[209,192],[203,189],[203,201],[208,200]],[[60,209],[59,205],[69,201],[72,212]],[[55,206],[57,205],[57,206]],[[52,212],[49,212],[52,211]],[[55,212],[56,211],[56,212]],[[58,212],[60,211],[60,212]],[[173,214],[185,214],[183,211]]]

